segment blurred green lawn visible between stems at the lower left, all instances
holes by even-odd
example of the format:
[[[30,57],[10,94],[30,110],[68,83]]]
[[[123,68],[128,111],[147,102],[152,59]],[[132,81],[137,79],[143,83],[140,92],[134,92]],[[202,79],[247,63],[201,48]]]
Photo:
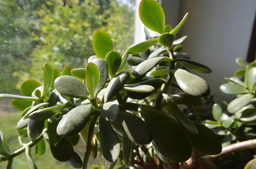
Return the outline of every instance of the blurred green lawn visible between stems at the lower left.
[[[11,152],[20,148],[20,145],[17,141],[18,132],[16,131],[16,124],[20,119],[20,113],[1,113],[0,114],[0,130],[3,132],[6,142],[8,143]],[[29,142],[28,138],[24,138],[23,141]],[[47,142],[46,142],[47,144]],[[79,144],[74,148],[76,152],[82,158],[84,155],[85,145],[82,143],[81,139]],[[37,157],[35,155],[35,147],[31,149],[31,155],[33,160],[35,161],[38,169],[71,169],[71,167],[67,166],[64,162],[59,162],[53,158],[49,144],[47,144],[47,149],[44,155]],[[93,163],[99,163],[99,155],[96,160],[90,160],[89,165],[91,166]],[[7,166],[7,161],[2,161],[0,163],[0,169],[4,169]],[[26,156],[24,153],[18,155],[14,158],[13,169],[29,169],[29,166],[26,161]]]

